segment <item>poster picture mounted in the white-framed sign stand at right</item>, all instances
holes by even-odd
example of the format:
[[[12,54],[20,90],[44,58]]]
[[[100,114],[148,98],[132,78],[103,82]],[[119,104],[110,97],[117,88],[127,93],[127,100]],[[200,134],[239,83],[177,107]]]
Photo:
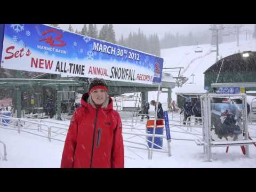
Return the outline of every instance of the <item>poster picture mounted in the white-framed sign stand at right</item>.
[[[243,140],[244,108],[242,99],[211,99],[212,141]]]

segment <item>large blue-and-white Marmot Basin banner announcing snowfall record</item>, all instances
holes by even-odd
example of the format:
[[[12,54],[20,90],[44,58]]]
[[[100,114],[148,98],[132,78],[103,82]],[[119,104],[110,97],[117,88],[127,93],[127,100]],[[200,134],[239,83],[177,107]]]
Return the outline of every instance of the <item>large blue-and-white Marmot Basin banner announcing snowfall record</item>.
[[[1,67],[152,84],[161,82],[163,59],[46,25],[6,24]]]

